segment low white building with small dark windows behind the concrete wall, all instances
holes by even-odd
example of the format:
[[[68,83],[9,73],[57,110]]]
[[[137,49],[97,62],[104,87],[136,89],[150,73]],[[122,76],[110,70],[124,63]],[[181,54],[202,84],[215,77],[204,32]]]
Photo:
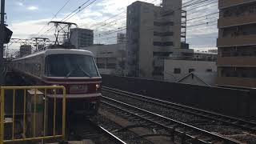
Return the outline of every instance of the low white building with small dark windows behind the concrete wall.
[[[169,82],[178,82],[192,72],[200,74],[216,73],[216,62],[194,60],[165,60],[164,79]]]

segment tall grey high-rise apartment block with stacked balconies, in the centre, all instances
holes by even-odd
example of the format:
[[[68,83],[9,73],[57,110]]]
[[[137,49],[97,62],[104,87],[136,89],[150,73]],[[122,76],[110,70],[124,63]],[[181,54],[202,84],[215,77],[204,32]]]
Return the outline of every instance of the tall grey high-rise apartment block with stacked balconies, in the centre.
[[[163,79],[165,58],[181,48],[186,48],[179,50],[182,53],[191,53],[181,41],[183,17],[182,1],[162,0],[162,6],[134,2],[128,6],[126,37],[130,76]]]

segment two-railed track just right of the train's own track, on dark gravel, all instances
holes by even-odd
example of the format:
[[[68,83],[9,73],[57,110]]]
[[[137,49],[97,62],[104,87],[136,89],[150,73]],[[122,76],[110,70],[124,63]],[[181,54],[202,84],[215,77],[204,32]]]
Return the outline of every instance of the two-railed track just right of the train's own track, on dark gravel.
[[[174,130],[178,134],[185,134],[186,138],[190,138],[193,141],[197,139],[197,142],[195,143],[213,143],[217,141],[224,143],[242,143],[231,138],[223,137],[222,135],[199,129],[195,126],[190,126],[183,122],[178,122],[171,118],[166,118],[160,114],[154,114],[136,106],[131,106],[130,104],[119,102],[113,98],[102,96],[102,103],[106,104],[107,106],[114,107],[115,109],[132,114],[148,122],[154,123],[154,125],[161,126],[166,130]]]

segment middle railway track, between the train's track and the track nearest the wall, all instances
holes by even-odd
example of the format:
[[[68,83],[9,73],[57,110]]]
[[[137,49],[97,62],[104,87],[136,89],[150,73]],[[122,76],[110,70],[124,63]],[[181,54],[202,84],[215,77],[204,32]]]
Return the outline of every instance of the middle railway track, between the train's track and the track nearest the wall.
[[[105,96],[102,96],[102,104],[118,110],[124,116],[133,118],[144,125],[156,126],[160,130],[170,132],[169,136],[173,142],[175,141],[174,138],[178,137],[181,139],[181,143],[241,143]]]

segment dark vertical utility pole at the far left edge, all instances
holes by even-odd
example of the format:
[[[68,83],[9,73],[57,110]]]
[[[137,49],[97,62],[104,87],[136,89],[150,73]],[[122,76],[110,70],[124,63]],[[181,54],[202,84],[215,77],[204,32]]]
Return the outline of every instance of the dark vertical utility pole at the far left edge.
[[[3,59],[3,45],[5,37],[5,0],[1,0],[1,24],[0,24],[0,86],[4,84],[4,59]]]

